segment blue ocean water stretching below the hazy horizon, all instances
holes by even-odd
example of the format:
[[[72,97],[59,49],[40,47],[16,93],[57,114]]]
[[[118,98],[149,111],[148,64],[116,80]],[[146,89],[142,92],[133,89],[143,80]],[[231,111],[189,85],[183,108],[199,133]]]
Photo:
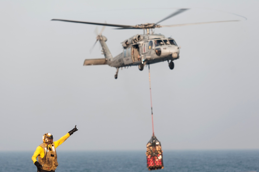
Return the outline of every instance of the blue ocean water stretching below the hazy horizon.
[[[0,152],[0,172],[37,171],[33,152]],[[56,172],[142,172],[148,171],[145,151],[57,150]],[[245,172],[259,171],[259,150],[163,151],[164,169],[153,172]]]

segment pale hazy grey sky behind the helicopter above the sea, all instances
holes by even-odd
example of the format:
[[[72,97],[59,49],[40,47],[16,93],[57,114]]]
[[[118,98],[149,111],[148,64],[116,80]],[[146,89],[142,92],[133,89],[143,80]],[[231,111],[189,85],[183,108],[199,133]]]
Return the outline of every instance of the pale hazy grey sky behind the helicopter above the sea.
[[[59,150],[143,150],[152,136],[148,68],[83,66],[104,58],[96,25],[161,25],[181,46],[174,70],[150,65],[154,133],[162,149],[258,149],[258,7],[248,1],[0,1],[0,151],[34,151],[77,126]],[[234,14],[237,15],[234,15]],[[244,16],[244,17],[242,17]],[[247,19],[247,20],[246,20]],[[101,26],[97,29],[100,31]],[[113,56],[138,29],[105,27]],[[92,49],[92,50],[91,50]],[[91,50],[91,52],[90,52]],[[26,146],[25,146],[26,145]]]

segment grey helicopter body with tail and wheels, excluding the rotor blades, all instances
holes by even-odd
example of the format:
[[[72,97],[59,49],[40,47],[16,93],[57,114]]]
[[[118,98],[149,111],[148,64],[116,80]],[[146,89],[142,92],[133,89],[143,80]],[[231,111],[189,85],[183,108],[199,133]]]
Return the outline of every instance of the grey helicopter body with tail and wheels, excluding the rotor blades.
[[[117,68],[115,78],[118,75],[118,68],[126,66],[139,66],[143,70],[145,64],[153,64],[168,61],[169,68],[173,69],[173,60],[179,58],[179,47],[172,38],[166,38],[162,34],[137,34],[122,42],[123,52],[115,56],[111,55],[107,44],[107,38],[99,35],[97,38],[102,46],[104,59],[86,59],[84,65],[107,64]],[[169,63],[169,61],[171,61]]]

